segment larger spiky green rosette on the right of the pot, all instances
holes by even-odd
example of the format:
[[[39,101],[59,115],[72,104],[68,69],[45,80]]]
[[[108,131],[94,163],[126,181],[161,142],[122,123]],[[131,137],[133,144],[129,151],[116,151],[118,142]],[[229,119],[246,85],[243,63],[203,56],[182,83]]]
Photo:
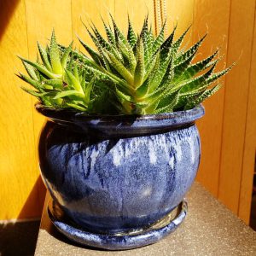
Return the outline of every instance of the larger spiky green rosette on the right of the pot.
[[[176,26],[165,39],[164,24],[155,37],[146,17],[137,35],[128,17],[125,36],[112,16],[111,20],[113,26],[103,21],[106,38],[93,24],[90,29],[85,26],[97,50],[79,40],[93,60],[92,65],[84,63],[84,68],[108,80],[108,90],[116,97],[112,103],[119,113],[170,113],[194,108],[220,88],[218,79],[231,68],[214,72],[218,50],[193,63],[206,36],[186,49],[183,39],[189,28],[174,41]]]

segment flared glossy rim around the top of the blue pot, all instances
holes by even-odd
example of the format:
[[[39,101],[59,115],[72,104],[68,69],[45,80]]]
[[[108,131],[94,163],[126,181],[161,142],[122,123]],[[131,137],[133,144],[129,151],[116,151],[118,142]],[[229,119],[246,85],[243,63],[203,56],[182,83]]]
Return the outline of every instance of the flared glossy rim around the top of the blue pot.
[[[96,131],[109,136],[136,136],[183,129],[194,125],[195,120],[205,113],[202,105],[184,111],[144,115],[90,115],[71,109],[45,107],[41,102],[36,103],[35,108],[57,124],[74,125],[82,131]]]

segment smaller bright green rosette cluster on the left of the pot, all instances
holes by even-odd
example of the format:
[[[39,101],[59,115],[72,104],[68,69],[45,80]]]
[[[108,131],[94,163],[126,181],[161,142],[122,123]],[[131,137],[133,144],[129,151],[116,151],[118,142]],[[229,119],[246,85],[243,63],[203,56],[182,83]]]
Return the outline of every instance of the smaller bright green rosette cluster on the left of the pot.
[[[92,96],[95,79],[87,76],[73,57],[72,44],[60,50],[53,31],[49,46],[44,49],[38,44],[38,52],[40,60],[36,62],[20,58],[28,75],[20,73],[18,76],[34,90],[21,88],[46,107],[88,111],[96,98]]]

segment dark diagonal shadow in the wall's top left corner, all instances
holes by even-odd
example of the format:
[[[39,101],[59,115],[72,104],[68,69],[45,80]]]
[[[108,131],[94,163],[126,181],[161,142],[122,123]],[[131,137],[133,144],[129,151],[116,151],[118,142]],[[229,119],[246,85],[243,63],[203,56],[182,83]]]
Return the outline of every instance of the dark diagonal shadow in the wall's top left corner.
[[[0,41],[20,0],[0,0]]]

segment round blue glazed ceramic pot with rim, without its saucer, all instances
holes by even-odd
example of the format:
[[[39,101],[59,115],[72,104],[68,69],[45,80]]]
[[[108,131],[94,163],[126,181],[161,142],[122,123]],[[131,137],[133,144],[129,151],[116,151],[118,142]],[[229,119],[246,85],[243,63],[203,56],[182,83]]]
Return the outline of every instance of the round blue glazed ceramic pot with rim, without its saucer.
[[[44,108],[44,183],[80,227],[101,234],[142,229],[183,200],[200,162],[195,120],[204,109],[144,116],[88,116]]]

